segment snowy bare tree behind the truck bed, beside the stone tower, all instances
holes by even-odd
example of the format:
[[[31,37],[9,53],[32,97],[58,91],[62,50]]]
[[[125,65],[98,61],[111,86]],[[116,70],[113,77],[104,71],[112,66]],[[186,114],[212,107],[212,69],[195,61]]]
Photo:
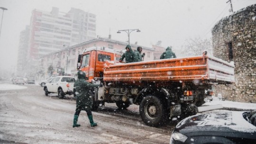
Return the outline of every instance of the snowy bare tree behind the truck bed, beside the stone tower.
[[[211,39],[201,39],[200,37],[187,39],[181,48],[181,54],[184,56],[201,55],[203,51],[207,51],[208,54],[212,53]]]

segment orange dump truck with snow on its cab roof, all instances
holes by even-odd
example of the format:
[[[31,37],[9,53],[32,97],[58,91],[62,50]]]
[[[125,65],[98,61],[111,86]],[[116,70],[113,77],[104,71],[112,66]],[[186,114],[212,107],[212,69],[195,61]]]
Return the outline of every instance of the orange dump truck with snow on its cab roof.
[[[140,106],[142,121],[157,127],[168,119],[194,114],[211,99],[212,85],[235,82],[234,64],[204,52],[201,56],[119,63],[121,52],[92,47],[79,55],[77,69],[104,86],[92,93],[93,108],[104,102],[119,109]]]

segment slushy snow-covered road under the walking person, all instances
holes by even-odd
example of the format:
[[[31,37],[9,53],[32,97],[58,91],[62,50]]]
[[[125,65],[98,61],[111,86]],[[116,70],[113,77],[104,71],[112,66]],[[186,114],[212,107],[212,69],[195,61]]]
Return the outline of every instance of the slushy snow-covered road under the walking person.
[[[22,85],[23,86],[23,85]],[[76,102],[45,96],[39,85],[0,91],[1,144],[169,144],[176,124],[148,127],[142,122],[138,106],[118,111],[107,104],[93,112],[98,127],[90,127],[85,111],[73,128]]]

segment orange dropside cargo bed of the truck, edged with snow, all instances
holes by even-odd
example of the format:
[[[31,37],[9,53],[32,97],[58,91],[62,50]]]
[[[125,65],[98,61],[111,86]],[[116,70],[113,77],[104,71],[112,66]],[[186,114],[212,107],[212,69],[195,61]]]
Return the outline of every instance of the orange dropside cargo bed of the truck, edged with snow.
[[[233,83],[234,64],[213,56],[160,59],[114,64],[104,67],[104,81],[108,82],[166,82],[209,80]]]

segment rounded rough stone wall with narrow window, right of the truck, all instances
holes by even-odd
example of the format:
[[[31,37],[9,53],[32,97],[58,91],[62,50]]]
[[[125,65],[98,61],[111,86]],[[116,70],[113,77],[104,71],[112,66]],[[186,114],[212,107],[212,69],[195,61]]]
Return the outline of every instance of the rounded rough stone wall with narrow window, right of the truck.
[[[256,102],[256,4],[221,19],[212,29],[213,55],[234,61],[233,85],[217,85],[226,100]],[[230,51],[232,50],[232,51]]]

